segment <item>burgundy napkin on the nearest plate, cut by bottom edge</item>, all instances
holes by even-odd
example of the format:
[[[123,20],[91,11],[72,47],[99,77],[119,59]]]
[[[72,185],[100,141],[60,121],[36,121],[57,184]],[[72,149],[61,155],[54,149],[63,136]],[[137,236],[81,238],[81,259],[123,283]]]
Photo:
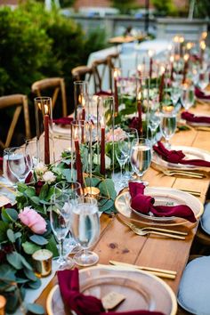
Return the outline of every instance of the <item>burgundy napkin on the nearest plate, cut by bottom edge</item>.
[[[73,271],[57,272],[63,302],[77,315],[163,315],[159,311],[124,311],[115,312],[104,310],[101,300],[91,295],[79,292],[79,276],[77,268]]]

